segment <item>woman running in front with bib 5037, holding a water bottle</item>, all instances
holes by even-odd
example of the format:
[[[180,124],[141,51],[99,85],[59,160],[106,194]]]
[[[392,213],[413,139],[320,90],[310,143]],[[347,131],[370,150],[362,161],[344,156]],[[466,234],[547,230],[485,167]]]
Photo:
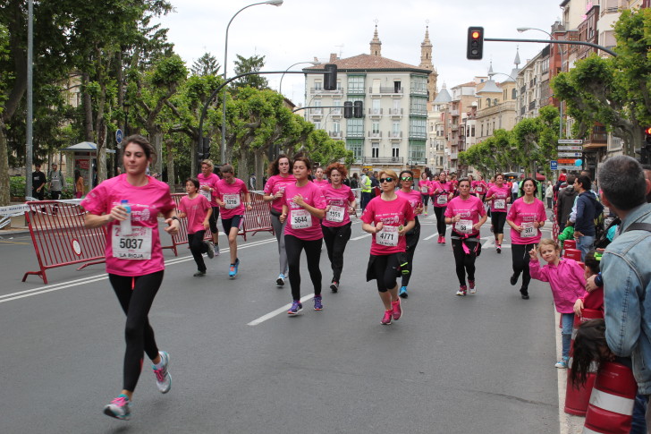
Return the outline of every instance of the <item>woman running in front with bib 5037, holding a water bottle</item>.
[[[106,271],[118,301],[127,316],[123,390],[104,413],[116,419],[131,416],[131,399],[142,370],[143,353],[154,363],[156,385],[167,393],[172,380],[167,371],[169,355],[158,351],[148,312],[163,282],[165,262],[158,234],[158,213],[165,217],[165,232],[179,231],[179,218],[166,183],[146,174],[156,152],[148,140],[133,135],[124,140],[125,174],[100,183],[81,206],[86,209],[86,227],[106,225]],[[129,209],[122,204],[127,200]],[[122,234],[120,222],[131,218],[131,234]]]

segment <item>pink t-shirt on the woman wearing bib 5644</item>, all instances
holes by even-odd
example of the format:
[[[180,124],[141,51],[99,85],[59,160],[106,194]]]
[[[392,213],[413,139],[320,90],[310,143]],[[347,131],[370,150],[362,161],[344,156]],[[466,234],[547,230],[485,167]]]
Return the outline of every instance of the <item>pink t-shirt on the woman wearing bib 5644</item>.
[[[295,204],[292,199],[300,194],[309,206],[318,209],[325,209],[325,198],[323,191],[314,183],[307,183],[297,187],[296,182],[285,187],[283,205],[287,205],[287,223],[285,224],[285,235],[293,235],[305,241],[318,240],[323,238],[321,231],[321,220],[309,214],[305,208]]]

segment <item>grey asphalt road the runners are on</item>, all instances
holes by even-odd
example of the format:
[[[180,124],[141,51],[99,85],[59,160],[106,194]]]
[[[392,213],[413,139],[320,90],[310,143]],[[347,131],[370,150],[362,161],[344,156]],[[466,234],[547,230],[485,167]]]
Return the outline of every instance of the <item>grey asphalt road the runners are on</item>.
[[[241,242],[235,279],[224,235],[207,277],[192,277],[190,251],[166,251],[150,321],[170,353],[172,391],[157,392],[145,363],[131,421],[102,413],[122,387],[124,350],[103,266],[21,283],[38,269],[30,237],[0,238],[0,432],[559,432],[551,291],[532,281],[520,299],[508,234],[498,255],[482,229],[478,293],[458,297],[452,247],[425,240],[435,217],[424,218],[404,316],[385,327],[365,279],[370,236],[354,221],[340,292],[326,289],[324,246],[325,309],[307,301],[297,317],[284,313],[289,283],[275,286],[271,234]],[[307,268],[302,277],[309,295]]]

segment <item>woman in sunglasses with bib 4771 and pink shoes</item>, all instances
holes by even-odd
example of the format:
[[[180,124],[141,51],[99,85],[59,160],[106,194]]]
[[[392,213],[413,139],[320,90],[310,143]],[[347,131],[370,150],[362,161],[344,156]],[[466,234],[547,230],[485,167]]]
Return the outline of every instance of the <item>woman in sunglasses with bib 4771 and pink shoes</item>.
[[[361,216],[362,229],[373,234],[367,268],[367,282],[375,279],[385,305],[382,325],[402,316],[397,277],[407,249],[405,234],[415,226],[413,208],[395,192],[398,179],[393,170],[380,172],[382,193],[368,202]]]

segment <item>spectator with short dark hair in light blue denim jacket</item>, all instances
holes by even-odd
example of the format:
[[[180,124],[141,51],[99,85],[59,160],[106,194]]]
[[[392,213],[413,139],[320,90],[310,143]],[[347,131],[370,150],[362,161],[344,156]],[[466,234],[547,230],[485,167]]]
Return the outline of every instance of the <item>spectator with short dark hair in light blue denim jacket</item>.
[[[621,218],[621,231],[601,260],[604,280],[605,337],[608,347],[632,358],[638,394],[651,394],[651,182],[634,158],[605,160],[599,170],[604,205]],[[631,227],[646,224],[646,228]],[[647,426],[651,414],[647,410]]]

